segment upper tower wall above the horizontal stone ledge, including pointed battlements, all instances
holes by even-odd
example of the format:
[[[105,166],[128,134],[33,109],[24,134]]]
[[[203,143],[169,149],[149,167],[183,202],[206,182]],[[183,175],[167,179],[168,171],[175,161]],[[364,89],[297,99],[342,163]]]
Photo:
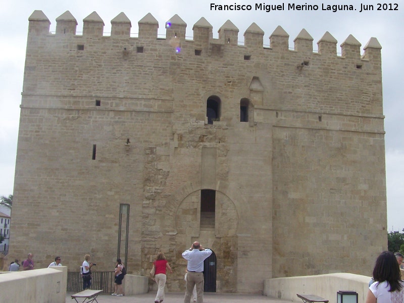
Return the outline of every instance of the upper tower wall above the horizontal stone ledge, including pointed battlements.
[[[178,15],[165,22],[165,38],[158,36],[159,21],[150,13],[138,21],[137,37],[131,36],[132,22],[123,12],[111,20],[109,36],[96,12],[83,19],[80,34],[69,11],[56,18],[55,33],[49,33],[50,24],[42,11],[29,17],[23,94],[96,91],[108,98],[164,100],[120,105],[120,110],[173,111],[169,100],[175,98],[177,86],[186,84],[195,94],[190,108],[196,121],[205,120],[198,99],[207,91],[219,98],[242,95],[262,107],[256,108],[256,122],[271,120],[260,111],[273,109],[382,115],[381,46],[376,38],[361,54],[362,44],[348,35],[340,44],[341,56],[328,31],[314,52],[314,38],[306,29],[290,47],[289,33],[277,26],[267,36],[267,47],[265,31],[252,23],[240,45],[233,22],[227,20],[213,38],[213,26],[204,17],[192,26],[192,39],[186,37],[187,24]],[[313,91],[315,97],[309,97]],[[109,106],[116,107],[114,102]]]

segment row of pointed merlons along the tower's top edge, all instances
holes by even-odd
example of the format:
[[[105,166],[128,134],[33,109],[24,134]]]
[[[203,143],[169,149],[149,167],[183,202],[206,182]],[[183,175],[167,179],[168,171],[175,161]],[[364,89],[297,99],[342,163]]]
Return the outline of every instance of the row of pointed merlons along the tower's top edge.
[[[29,37],[32,36],[47,36],[51,22],[42,11],[34,11],[29,17]],[[66,11],[61,16],[56,18],[56,37],[84,37],[84,38],[108,38],[103,36],[105,23],[96,12],[92,12],[83,19],[82,35],[77,35],[77,20],[74,16]],[[129,18],[122,12],[111,20],[111,35],[112,39],[128,39],[137,40],[139,44],[153,43],[154,41],[162,40],[158,38],[159,22],[153,15],[148,13],[138,21],[138,37],[130,36],[132,27]],[[166,41],[172,47],[182,47],[185,42],[192,42],[193,46],[200,50],[205,49],[212,51],[215,49],[221,52],[222,48],[243,46],[247,52],[263,49],[265,32],[256,23],[252,23],[244,32],[244,45],[238,45],[239,29],[230,21],[227,20],[218,30],[219,38],[213,38],[213,26],[204,18],[200,18],[192,27],[193,39],[189,40],[185,37],[187,24],[178,16],[174,15],[165,23]],[[51,34],[52,35],[52,34]],[[313,37],[302,29],[294,38],[294,45],[289,45],[289,34],[278,26],[269,36],[270,47],[272,52],[298,52],[309,55],[313,53]],[[29,40],[28,40],[29,41]],[[326,57],[337,56],[337,40],[327,31],[317,42],[318,53]],[[361,55],[361,43],[352,35],[340,44],[342,58],[366,61],[375,60],[380,63],[380,49],[382,48],[376,38],[372,37],[364,47],[364,53]],[[290,48],[294,50],[291,51]],[[204,52],[206,54],[207,52]],[[209,52],[208,52],[209,54]],[[380,65],[380,64],[378,64]]]

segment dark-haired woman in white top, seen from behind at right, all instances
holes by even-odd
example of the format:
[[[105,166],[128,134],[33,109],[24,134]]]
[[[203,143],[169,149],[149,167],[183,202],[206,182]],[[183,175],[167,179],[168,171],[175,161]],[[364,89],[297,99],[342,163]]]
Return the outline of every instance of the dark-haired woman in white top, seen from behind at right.
[[[404,281],[391,251],[383,251],[377,258],[373,278],[366,303],[404,303]]]

